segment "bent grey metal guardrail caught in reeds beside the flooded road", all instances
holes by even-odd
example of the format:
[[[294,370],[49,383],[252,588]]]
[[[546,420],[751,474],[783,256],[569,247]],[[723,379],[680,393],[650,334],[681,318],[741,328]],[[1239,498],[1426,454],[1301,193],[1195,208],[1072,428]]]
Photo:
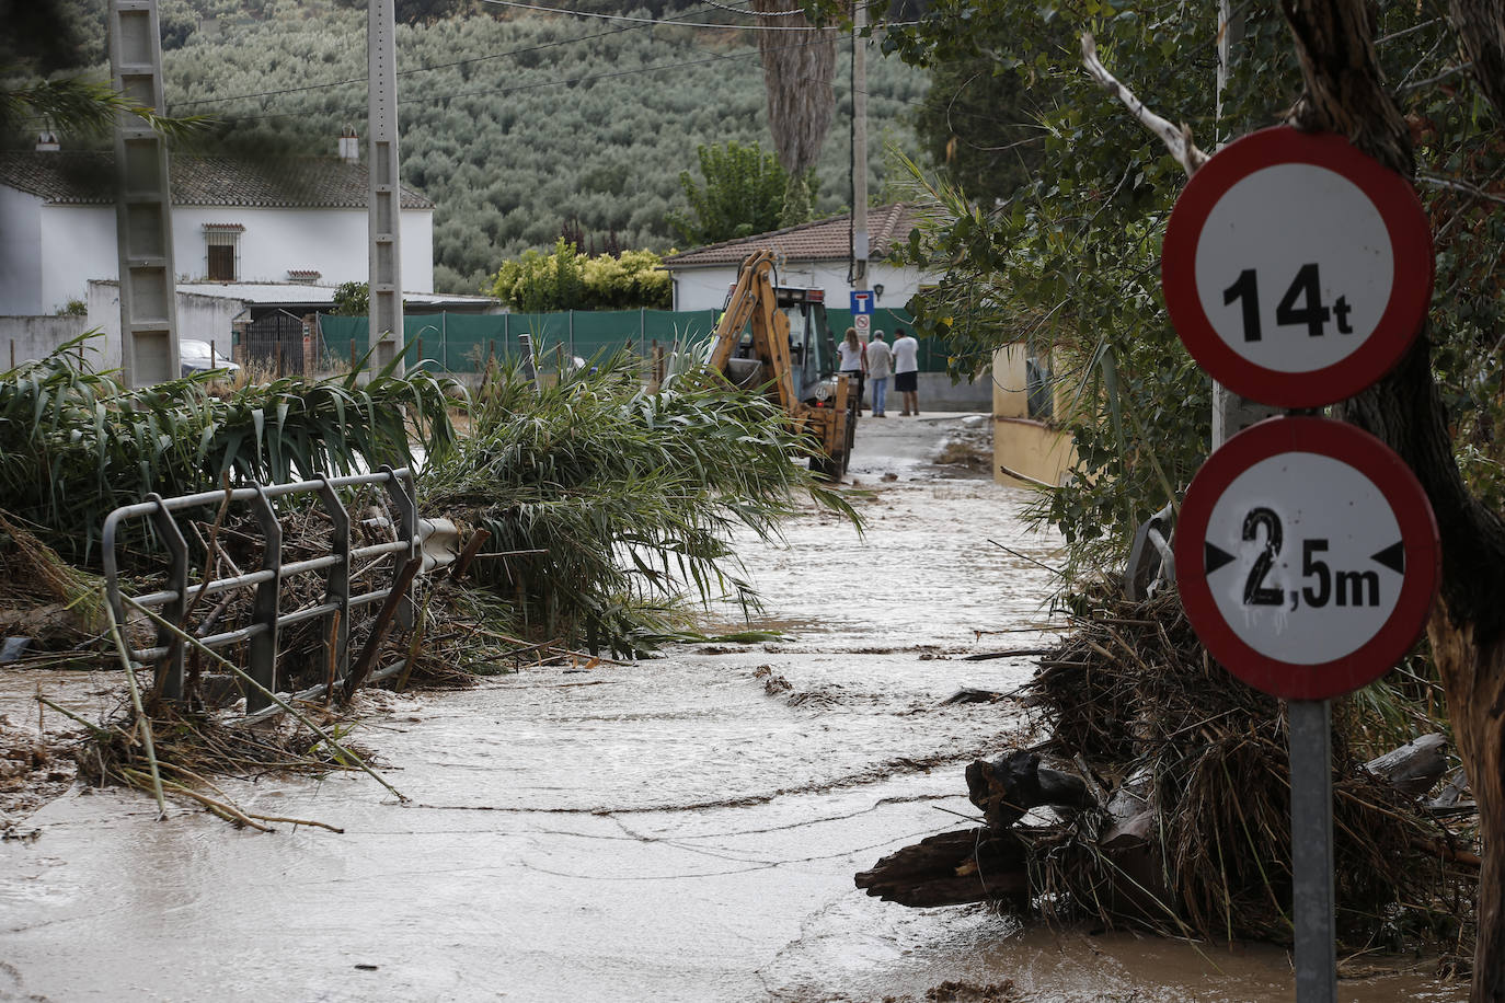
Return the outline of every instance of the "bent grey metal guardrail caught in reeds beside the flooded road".
[[[376,543],[351,549],[351,516],[340,502],[339,489],[364,484],[384,484],[397,511],[397,540]],[[281,525],[272,508],[272,499],[286,495],[318,493],[325,513],[333,523],[330,553],[304,561],[283,562]],[[205,576],[196,583],[188,580],[188,543],[173,513],[187,508],[224,504],[226,495],[232,504],[248,504],[265,540],[262,546],[262,567],[245,571],[233,577]],[[307,620],[324,618],[328,629],[324,632],[325,656],[334,660],[336,678],[345,678],[349,668],[349,624],[351,609],[369,603],[381,603],[391,595],[391,586],[370,592],[351,594],[351,568],[357,561],[379,558],[387,553],[399,555],[393,562],[393,579],[402,567],[418,558],[418,507],[412,487],[412,472],[408,468],[391,469],[385,466],[378,474],[355,474],[349,477],[325,477],[313,481],[295,481],[290,484],[248,484],[229,492],[214,490],[181,498],[163,498],[150,493],[146,501],[134,505],[123,505],[111,511],[104,520],[104,577],[105,594],[110,603],[110,615],[120,629],[122,636],[128,618],[125,601],[120,595],[119,568],[116,564],[116,532],[120,523],[131,519],[149,519],[157,537],[167,547],[170,564],[167,570],[167,588],[134,595],[134,601],[141,606],[160,609],[160,615],[169,623],[181,623],[190,601],[199,597],[215,595],[236,588],[254,588],[256,597],[251,605],[250,623],[235,630],[211,633],[199,641],[208,648],[223,648],[232,644],[247,642],[247,674],[266,687],[277,692],[277,635],[281,627],[304,623]],[[298,609],[289,614],[278,614],[281,600],[281,583],[293,574],[309,574],[324,571],[324,601]],[[409,611],[411,615],[411,611]],[[187,627],[185,627],[187,629]],[[333,651],[330,647],[333,645]],[[157,644],[150,648],[128,651],[128,657],[140,665],[155,665],[157,686],[167,699],[182,699],[184,695],[184,642],[170,630],[160,627]],[[247,713],[254,713],[268,707],[271,701],[254,689],[245,695]]]

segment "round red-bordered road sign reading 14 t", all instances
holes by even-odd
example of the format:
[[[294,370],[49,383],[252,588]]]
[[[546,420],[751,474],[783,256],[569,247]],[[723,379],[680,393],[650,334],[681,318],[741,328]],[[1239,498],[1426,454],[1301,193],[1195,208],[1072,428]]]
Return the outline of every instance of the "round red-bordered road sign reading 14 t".
[[[1228,144],[1175,202],[1160,260],[1171,322],[1228,389],[1318,408],[1380,379],[1431,299],[1410,182],[1341,135],[1276,126]]]

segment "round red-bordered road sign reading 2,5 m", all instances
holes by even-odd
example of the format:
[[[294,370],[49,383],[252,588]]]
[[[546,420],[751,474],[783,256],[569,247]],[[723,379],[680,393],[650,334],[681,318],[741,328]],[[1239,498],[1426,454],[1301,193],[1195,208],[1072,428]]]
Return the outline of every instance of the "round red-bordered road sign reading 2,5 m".
[[[1327,699],[1385,675],[1427,623],[1437,523],[1383,442],[1323,418],[1270,418],[1192,480],[1175,528],[1186,617],[1240,680]]]

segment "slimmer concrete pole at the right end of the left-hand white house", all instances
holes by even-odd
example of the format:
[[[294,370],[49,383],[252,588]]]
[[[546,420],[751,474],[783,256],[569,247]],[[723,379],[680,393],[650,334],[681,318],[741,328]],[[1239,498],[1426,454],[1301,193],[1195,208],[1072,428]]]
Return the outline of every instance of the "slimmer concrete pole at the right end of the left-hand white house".
[[[393,0],[370,0],[366,17],[367,125],[370,134],[367,235],[372,368],[394,358],[402,374],[402,183],[397,180],[397,23]]]

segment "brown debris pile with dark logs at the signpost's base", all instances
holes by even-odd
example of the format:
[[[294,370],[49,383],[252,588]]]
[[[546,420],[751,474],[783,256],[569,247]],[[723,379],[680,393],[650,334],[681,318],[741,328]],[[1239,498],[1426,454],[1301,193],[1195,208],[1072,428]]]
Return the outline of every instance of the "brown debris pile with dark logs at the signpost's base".
[[[1054,737],[968,767],[987,826],[905,848],[859,874],[859,887],[915,905],[995,901],[1177,935],[1290,941],[1284,714],[1207,657],[1175,595],[1094,597],[1020,696]],[[1351,699],[1333,713],[1339,938],[1370,949],[1472,943],[1473,835],[1449,821],[1454,808],[1424,800],[1440,779],[1442,743],[1416,746],[1434,768],[1367,765],[1367,719]]]

